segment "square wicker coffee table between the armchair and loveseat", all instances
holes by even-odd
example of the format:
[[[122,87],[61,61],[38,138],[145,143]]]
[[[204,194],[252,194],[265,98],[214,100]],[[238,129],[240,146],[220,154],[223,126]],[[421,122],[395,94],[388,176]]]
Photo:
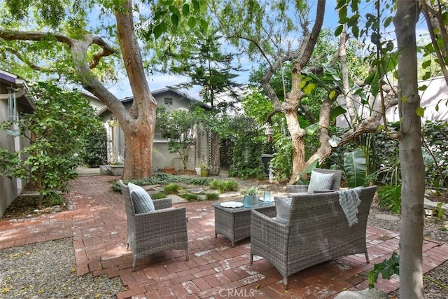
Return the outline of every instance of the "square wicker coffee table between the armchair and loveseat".
[[[235,200],[235,202],[243,201]],[[253,209],[269,217],[276,216],[274,202],[269,204],[258,202],[258,204],[252,204],[250,208],[226,208],[221,206],[221,202],[211,205],[215,208],[215,237],[218,237],[218,234],[227,237],[232,242],[232,247],[235,246],[235,242],[251,237],[251,211]]]

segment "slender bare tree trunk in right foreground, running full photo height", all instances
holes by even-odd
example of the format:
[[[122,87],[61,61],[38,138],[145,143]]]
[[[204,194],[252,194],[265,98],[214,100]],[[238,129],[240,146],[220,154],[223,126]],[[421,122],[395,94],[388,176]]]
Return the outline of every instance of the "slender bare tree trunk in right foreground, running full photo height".
[[[400,231],[400,298],[423,298],[422,246],[424,164],[417,90],[415,25],[417,1],[397,1],[393,19],[398,42],[398,109],[400,111],[400,166],[402,174]]]

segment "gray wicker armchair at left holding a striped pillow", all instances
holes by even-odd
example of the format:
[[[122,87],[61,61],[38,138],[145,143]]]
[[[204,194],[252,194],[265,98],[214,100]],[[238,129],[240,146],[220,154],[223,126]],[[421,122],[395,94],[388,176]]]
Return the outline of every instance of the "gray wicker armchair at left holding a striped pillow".
[[[172,208],[172,200],[167,197],[153,201],[155,211],[135,214],[129,188],[121,180],[118,184],[125,200],[127,248],[132,251],[132,271],[139,258],[170,249],[184,249],[188,260],[186,209]]]

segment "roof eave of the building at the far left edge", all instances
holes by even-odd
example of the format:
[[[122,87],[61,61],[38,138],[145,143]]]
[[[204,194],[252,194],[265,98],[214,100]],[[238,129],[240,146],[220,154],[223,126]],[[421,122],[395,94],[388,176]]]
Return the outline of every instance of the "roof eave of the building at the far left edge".
[[[32,112],[36,109],[34,97],[29,94],[29,89],[24,78],[0,69],[0,82],[6,83],[10,88],[14,88],[18,104],[25,112]],[[0,99],[8,99],[8,94],[0,94]]]

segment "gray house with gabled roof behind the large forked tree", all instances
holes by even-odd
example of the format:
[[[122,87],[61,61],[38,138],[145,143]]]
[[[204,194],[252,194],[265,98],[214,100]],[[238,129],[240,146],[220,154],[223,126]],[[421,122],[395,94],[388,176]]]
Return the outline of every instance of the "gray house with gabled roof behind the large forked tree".
[[[210,108],[197,99],[190,97],[190,95],[187,95],[186,93],[172,87],[155,90],[152,92],[152,95],[158,106],[167,106],[168,111],[188,109],[188,106],[192,102],[199,102],[205,109]],[[132,106],[132,97],[121,99],[121,102],[127,109],[130,109]],[[116,122],[113,114],[109,111],[109,109],[107,109],[106,106],[99,109],[98,115],[102,118],[102,120],[104,120],[106,130],[109,135],[109,161],[124,162],[125,136],[123,134],[123,130],[120,128],[120,124]],[[169,153],[167,143],[168,140],[162,137],[160,130],[156,127],[153,140],[153,169],[155,171],[165,167],[174,167],[176,170],[183,169],[181,156],[178,153]],[[195,165],[195,146],[193,145],[190,147],[187,169],[194,169]]]

